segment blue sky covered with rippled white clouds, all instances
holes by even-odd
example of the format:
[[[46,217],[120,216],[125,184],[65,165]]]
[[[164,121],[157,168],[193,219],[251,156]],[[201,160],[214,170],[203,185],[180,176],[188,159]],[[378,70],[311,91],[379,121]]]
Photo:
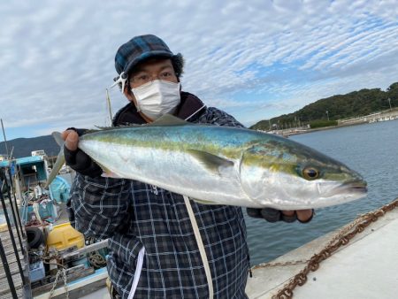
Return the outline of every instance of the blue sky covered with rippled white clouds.
[[[0,19],[8,141],[109,126],[114,57],[135,35],[180,52],[183,90],[246,126],[398,81],[397,0],[13,0]],[[127,103],[110,96],[113,113]]]

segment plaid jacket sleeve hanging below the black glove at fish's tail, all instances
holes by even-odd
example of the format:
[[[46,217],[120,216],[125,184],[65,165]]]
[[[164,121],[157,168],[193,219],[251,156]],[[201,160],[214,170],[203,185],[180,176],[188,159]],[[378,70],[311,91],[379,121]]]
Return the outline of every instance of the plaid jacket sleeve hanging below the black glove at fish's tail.
[[[106,239],[132,217],[130,181],[76,173],[67,203],[71,224],[86,236]]]

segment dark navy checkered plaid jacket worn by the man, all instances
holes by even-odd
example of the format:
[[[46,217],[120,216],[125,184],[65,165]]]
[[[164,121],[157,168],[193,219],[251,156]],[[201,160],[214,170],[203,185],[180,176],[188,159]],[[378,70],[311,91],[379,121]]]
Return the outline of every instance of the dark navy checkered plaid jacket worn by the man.
[[[183,93],[181,101],[180,117],[203,105],[188,93]],[[242,126],[216,108],[203,107],[196,114],[189,120]],[[137,118],[131,104],[119,111],[115,123],[128,119],[143,122]],[[249,249],[241,208],[191,204],[209,259],[214,297],[247,298]],[[145,256],[134,298],[209,297],[194,231],[179,194],[136,180],[91,179],[77,174],[68,205],[71,221],[80,232],[109,238],[108,272],[122,298],[127,298],[131,289],[142,246]]]

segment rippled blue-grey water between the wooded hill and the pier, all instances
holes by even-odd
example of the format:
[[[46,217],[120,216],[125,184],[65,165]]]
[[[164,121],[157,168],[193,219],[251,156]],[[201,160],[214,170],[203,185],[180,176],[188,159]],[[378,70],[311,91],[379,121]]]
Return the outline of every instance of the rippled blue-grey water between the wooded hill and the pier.
[[[368,182],[368,196],[318,209],[308,224],[267,223],[246,217],[251,264],[268,262],[398,197],[398,119],[290,137],[340,160]]]

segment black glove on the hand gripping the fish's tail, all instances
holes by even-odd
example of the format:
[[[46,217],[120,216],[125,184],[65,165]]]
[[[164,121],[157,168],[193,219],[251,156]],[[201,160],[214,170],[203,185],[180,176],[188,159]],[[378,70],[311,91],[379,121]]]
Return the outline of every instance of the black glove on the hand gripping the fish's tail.
[[[86,129],[76,129],[74,127],[69,127],[66,130],[73,130],[79,136],[87,131]],[[88,175],[90,178],[99,177],[103,173],[101,167],[79,148],[69,150],[64,145],[64,156],[66,165],[70,166],[77,173]]]

